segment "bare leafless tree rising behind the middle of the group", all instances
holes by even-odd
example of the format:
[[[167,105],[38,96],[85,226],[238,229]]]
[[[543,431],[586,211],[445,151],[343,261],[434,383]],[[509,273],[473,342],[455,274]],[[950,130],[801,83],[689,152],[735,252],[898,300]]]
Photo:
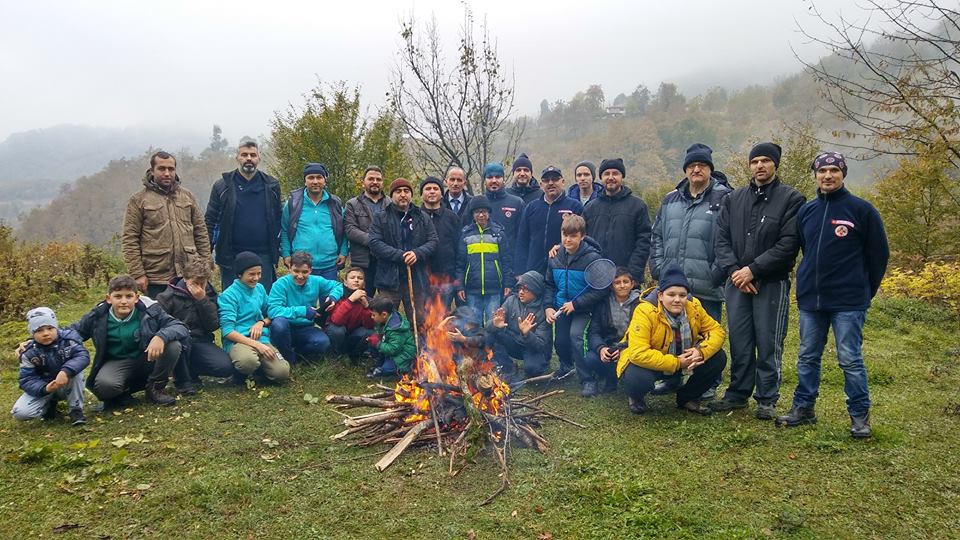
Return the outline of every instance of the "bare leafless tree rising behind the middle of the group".
[[[403,47],[389,92],[417,166],[442,173],[456,165],[468,180],[485,163],[513,156],[526,126],[524,120],[509,120],[513,77],[500,65],[486,21],[479,41],[474,26],[465,4],[457,56],[448,61],[436,18],[425,29],[413,15],[401,21]],[[494,156],[495,145],[503,154]]]

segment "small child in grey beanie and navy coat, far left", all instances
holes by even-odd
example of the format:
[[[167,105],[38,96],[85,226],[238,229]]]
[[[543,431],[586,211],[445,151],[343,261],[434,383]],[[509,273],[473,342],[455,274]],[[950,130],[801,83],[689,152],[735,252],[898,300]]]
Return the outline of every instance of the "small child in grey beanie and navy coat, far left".
[[[75,426],[86,424],[83,370],[90,364],[90,353],[83,346],[83,339],[73,330],[61,330],[56,314],[47,307],[27,313],[27,331],[33,339],[20,354],[23,395],[13,404],[13,417],[52,419],[57,413],[57,401],[66,399],[70,422]]]

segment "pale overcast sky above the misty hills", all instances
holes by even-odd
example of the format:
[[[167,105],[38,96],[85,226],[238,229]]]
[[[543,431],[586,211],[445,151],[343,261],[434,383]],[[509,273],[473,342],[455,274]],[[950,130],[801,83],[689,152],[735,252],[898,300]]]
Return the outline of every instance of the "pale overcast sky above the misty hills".
[[[859,13],[855,0],[820,0]],[[609,100],[638,84],[769,83],[822,50],[795,21],[818,28],[804,0],[474,2],[518,108],[569,99],[590,84]],[[302,103],[317,78],[359,84],[383,104],[400,45],[399,20],[436,16],[455,52],[459,2],[0,0],[0,141],[61,123],[150,125],[224,135],[269,133],[274,111]],[[696,84],[697,82],[701,84]],[[730,83],[732,84],[732,83]],[[694,86],[691,86],[694,85]]]

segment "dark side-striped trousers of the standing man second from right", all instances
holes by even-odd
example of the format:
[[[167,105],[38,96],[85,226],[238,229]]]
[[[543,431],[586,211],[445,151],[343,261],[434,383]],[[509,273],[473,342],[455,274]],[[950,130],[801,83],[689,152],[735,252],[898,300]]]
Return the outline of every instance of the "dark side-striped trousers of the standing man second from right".
[[[727,283],[730,386],[724,399],[743,403],[753,393],[757,403],[775,405],[780,399],[790,281],[762,282],[757,289],[757,294],[745,294]]]

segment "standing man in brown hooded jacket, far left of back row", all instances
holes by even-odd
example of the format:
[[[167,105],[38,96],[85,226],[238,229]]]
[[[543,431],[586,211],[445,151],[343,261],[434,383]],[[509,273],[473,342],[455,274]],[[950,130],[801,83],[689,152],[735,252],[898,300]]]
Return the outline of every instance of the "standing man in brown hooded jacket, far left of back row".
[[[203,212],[180,186],[173,155],[161,150],[150,156],[143,189],[127,203],[121,247],[127,271],[151,298],[182,274],[190,258],[210,256]]]

